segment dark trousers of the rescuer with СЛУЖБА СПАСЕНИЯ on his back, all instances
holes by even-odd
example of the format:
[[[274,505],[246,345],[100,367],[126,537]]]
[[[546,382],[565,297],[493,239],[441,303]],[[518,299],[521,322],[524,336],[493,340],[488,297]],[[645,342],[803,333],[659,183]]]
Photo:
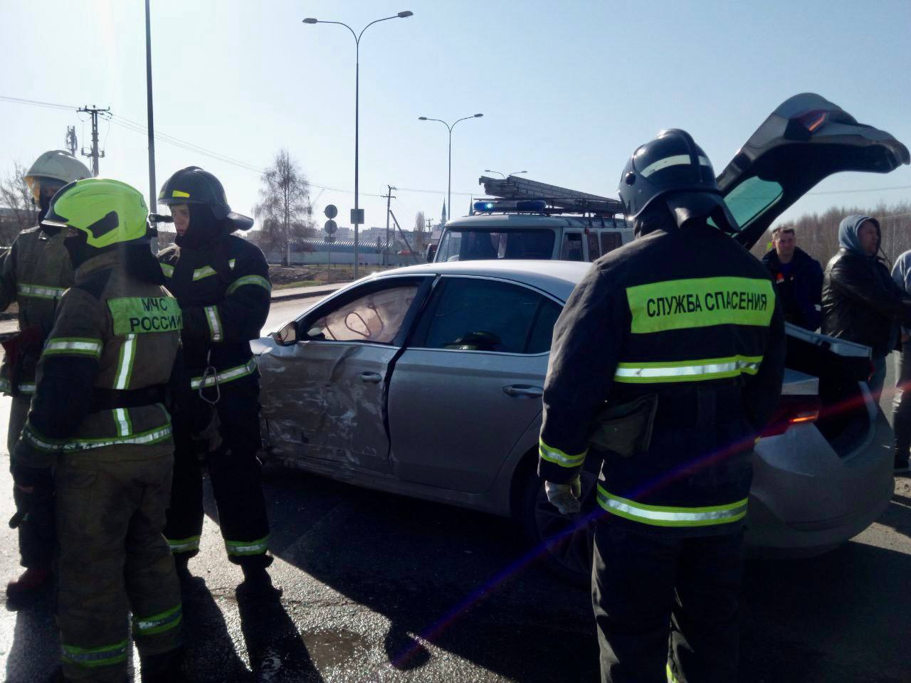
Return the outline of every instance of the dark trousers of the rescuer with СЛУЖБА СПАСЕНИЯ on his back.
[[[592,602],[604,683],[735,683],[742,531],[662,538],[595,529]]]

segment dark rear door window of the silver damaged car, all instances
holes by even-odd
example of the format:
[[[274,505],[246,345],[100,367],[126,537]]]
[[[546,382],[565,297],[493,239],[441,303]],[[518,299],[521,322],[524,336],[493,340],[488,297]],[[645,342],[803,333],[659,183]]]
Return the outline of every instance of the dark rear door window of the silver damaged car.
[[[536,292],[506,282],[445,278],[418,322],[413,345],[425,349],[528,353],[529,333],[542,301]],[[548,346],[549,343],[548,336]]]

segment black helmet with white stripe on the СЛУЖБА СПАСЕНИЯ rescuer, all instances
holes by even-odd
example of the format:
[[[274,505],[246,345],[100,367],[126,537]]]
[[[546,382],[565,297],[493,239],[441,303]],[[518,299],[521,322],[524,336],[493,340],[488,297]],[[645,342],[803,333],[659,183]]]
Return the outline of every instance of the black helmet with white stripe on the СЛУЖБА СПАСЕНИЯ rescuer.
[[[715,226],[737,230],[724,203],[711,161],[685,130],[662,130],[658,137],[633,152],[620,176],[619,196],[626,218],[636,220],[652,200],[664,199],[679,227],[710,217]]]

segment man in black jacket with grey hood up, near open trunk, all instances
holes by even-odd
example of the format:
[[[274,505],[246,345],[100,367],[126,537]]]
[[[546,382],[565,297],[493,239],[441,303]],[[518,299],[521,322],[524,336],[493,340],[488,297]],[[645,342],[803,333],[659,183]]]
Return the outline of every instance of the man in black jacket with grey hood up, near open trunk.
[[[825,267],[823,334],[873,350],[870,391],[876,401],[885,382],[885,356],[896,348],[898,328],[911,326],[911,296],[898,287],[877,256],[879,221],[852,215],[838,226],[840,249]]]

